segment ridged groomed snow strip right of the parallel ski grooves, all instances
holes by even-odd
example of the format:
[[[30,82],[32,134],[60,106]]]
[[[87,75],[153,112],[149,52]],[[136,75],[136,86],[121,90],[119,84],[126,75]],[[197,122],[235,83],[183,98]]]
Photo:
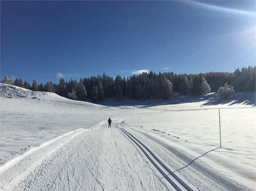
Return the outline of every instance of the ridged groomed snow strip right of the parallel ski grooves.
[[[179,174],[181,176],[184,175],[183,178],[187,179],[187,181],[194,185],[194,187],[196,187],[198,190],[251,190],[245,185],[238,183],[217,172],[216,169],[213,169],[209,165],[203,163],[200,161],[200,159],[194,161],[191,156],[186,155],[185,152],[177,150],[166,142],[163,142],[154,136],[150,136],[150,134],[145,133],[138,128],[132,126],[128,127],[125,123],[125,120],[118,121],[116,126],[117,128],[120,128],[125,134],[127,134],[127,136],[129,136],[129,138],[131,138],[135,144],[140,144],[142,147],[148,150],[151,156],[156,158],[156,160],[159,161],[159,164],[164,166],[164,169],[167,169],[168,173],[174,174],[173,172],[181,171]],[[165,161],[165,163],[162,163],[162,161]],[[166,167],[166,165],[168,165],[169,168]],[[173,169],[173,171],[171,169]],[[177,172],[174,174],[174,176],[176,174]],[[184,187],[184,189],[187,188]]]

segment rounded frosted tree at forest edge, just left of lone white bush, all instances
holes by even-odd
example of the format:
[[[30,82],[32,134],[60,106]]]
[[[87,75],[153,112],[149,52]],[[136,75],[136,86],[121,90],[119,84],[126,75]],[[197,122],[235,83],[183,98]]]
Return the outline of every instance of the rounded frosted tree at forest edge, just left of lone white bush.
[[[204,95],[206,93],[210,93],[211,89],[208,85],[206,79],[204,79],[202,73],[197,75],[193,79],[193,93],[195,95]]]

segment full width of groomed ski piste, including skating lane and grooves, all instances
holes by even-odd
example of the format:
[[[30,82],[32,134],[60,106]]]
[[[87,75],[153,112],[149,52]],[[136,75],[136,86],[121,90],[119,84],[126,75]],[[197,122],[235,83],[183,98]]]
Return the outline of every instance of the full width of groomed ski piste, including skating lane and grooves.
[[[73,130],[9,161],[0,167],[0,189],[250,190],[125,120],[113,122]]]

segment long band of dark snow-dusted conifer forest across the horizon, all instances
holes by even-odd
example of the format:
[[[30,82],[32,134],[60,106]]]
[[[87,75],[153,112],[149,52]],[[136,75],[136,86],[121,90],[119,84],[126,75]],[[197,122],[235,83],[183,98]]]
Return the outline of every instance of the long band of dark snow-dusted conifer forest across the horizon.
[[[4,77],[2,83],[16,85],[33,91],[48,91],[57,93],[60,96],[86,101],[90,99],[94,103],[103,101],[106,98],[116,97],[122,101],[124,97],[131,99],[169,99],[173,91],[182,94],[204,95],[211,91],[217,91],[224,84],[232,85],[236,91],[255,91],[256,88],[256,66],[235,69],[234,72],[209,72],[200,74],[176,74],[173,72],[153,71],[130,77],[117,75],[114,79],[105,73],[103,75],[91,76],[65,81],[60,79],[59,83],[48,81],[46,84],[37,84],[33,80],[30,85],[22,78],[15,79]]]

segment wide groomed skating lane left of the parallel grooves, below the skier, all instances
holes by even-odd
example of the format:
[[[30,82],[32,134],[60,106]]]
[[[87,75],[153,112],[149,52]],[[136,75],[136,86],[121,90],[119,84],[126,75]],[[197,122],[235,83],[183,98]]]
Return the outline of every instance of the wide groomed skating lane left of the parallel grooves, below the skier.
[[[69,132],[12,162],[0,170],[0,190],[171,190],[130,140],[105,122]]]

